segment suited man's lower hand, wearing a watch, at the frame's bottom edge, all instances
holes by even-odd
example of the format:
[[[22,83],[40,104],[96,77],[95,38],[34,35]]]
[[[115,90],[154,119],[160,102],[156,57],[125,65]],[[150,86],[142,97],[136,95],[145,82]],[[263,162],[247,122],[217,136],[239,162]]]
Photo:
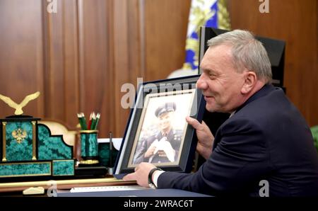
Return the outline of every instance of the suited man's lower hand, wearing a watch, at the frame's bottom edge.
[[[129,173],[122,179],[124,181],[137,181],[139,186],[148,188],[148,174],[153,168],[155,168],[155,165],[143,162],[136,166],[134,173]]]

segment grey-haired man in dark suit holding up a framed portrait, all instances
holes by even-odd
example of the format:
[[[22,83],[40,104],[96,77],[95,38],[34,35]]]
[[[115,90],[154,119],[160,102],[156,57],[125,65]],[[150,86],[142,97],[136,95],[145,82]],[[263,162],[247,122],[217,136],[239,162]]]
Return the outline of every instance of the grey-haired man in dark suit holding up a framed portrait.
[[[318,156],[310,129],[283,91],[271,85],[271,64],[261,42],[233,30],[208,45],[197,87],[207,110],[230,118],[215,137],[204,122],[187,118],[206,162],[195,173],[141,163],[124,179],[209,195],[317,196]]]

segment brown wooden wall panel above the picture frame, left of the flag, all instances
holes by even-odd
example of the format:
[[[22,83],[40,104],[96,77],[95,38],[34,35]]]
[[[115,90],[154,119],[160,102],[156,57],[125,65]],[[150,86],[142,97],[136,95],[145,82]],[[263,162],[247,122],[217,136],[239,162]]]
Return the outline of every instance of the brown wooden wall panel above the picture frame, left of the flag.
[[[191,1],[145,1],[146,80],[164,79],[180,69]]]

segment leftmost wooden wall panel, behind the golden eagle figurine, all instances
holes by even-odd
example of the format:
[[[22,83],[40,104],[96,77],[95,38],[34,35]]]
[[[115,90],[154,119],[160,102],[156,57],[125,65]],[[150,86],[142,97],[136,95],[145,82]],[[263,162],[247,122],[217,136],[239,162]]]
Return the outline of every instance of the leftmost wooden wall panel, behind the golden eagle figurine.
[[[0,1],[0,93],[16,103],[40,91],[37,100],[23,108],[25,115],[43,115],[42,10],[37,0]],[[0,116],[14,109],[0,102]]]

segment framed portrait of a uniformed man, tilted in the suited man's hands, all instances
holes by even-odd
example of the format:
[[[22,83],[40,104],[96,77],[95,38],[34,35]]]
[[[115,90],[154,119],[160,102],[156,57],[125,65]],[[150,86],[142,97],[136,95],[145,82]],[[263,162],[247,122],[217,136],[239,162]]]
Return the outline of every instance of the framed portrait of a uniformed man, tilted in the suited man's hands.
[[[198,79],[195,75],[139,85],[114,167],[117,178],[141,162],[165,171],[192,170],[197,139],[185,118],[202,120],[205,101],[196,89]]]

